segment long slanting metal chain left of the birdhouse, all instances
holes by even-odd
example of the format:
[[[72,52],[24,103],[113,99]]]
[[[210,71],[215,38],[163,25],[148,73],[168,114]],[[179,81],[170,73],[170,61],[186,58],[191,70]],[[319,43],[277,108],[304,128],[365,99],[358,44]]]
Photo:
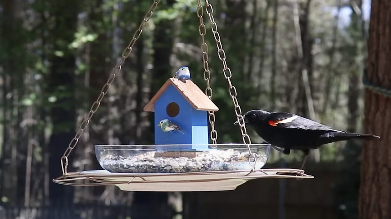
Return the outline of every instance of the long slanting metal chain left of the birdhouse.
[[[115,67],[111,71],[111,75],[109,79],[107,80],[106,84],[103,86],[100,95],[96,99],[96,101],[92,104],[90,111],[86,118],[83,120],[83,122],[80,125],[80,128],[76,135],[73,137],[71,142],[68,145],[68,148],[64,152],[64,155],[61,157],[61,169],[63,172],[63,175],[67,174],[67,167],[68,167],[68,156],[71,154],[72,150],[76,147],[77,142],[79,141],[79,138],[81,137],[83,131],[87,128],[88,124],[90,123],[90,120],[94,113],[98,110],[100,103],[103,99],[103,97],[107,94],[109,91],[112,82],[114,81],[117,74],[121,71],[122,65],[125,62],[125,59],[130,55],[130,53],[133,50],[133,46],[136,43],[137,39],[141,36],[141,33],[143,31],[143,28],[149,21],[149,19],[152,17],[154,10],[156,9],[157,5],[160,3],[161,0],[154,0],[151,7],[149,8],[148,12],[144,16],[144,20],[140,23],[138,29],[133,35],[132,40],[130,41],[129,45],[124,49],[122,52],[122,57],[118,61],[118,63],[115,65]]]

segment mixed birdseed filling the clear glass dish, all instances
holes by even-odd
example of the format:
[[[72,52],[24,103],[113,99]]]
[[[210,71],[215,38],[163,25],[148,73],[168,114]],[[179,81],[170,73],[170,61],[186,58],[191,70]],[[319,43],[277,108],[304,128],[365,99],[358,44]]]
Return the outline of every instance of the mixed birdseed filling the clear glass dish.
[[[255,154],[256,169],[267,161],[266,154]],[[205,171],[250,170],[248,152],[233,149],[211,150],[194,157],[162,157],[158,152],[149,151],[132,157],[106,155],[99,160],[100,165],[109,172],[116,173],[183,173]],[[253,160],[250,157],[250,160]]]

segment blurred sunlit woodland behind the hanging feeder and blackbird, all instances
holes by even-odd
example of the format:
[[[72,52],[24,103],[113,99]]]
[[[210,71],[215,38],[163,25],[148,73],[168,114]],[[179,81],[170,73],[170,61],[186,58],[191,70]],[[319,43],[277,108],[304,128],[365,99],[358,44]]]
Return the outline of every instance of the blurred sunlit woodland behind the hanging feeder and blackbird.
[[[104,205],[115,206],[118,213],[136,205],[146,215],[172,209],[186,217],[183,207],[177,206],[197,205],[191,195],[180,193],[122,192],[114,186],[73,188],[51,181],[61,175],[60,157],[151,3],[1,2],[0,207],[22,212],[20,207]],[[288,111],[337,129],[363,131],[369,0],[211,3],[243,112]],[[152,113],[143,107],[180,66],[189,66],[192,80],[205,89],[196,7],[196,0],[164,0],[158,5],[73,151],[70,171],[100,169],[96,144],[153,143]],[[241,142],[239,129],[230,125],[236,119],[234,107],[206,15],[204,22],[213,101],[220,108],[215,113],[218,142]],[[253,142],[262,142],[250,133]],[[311,154],[307,165],[343,170],[327,184],[333,191],[333,215],[339,218],[357,217],[361,144],[349,144],[357,145],[324,146]],[[297,167],[301,158],[301,153],[273,152],[268,165]],[[274,195],[289,192],[282,189],[277,186]],[[279,218],[285,218],[284,202],[278,206],[282,207]],[[110,214],[108,218],[122,217]]]

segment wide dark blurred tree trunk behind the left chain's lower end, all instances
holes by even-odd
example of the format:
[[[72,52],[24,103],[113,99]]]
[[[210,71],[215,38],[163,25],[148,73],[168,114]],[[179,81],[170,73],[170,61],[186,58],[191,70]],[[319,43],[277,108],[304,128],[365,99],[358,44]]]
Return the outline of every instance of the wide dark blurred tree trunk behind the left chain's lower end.
[[[50,30],[53,52],[49,57],[51,66],[47,78],[47,92],[54,97],[53,102],[50,103],[53,133],[49,141],[49,176],[53,179],[61,176],[60,158],[75,135],[74,72],[76,64],[75,55],[69,50],[68,45],[74,40],[73,34],[76,32],[78,1],[56,1],[49,4],[51,4],[51,16],[55,21],[54,27]],[[68,170],[72,168],[72,158],[69,162]],[[51,204],[64,204],[63,200],[72,203],[72,187],[51,183],[49,189]]]

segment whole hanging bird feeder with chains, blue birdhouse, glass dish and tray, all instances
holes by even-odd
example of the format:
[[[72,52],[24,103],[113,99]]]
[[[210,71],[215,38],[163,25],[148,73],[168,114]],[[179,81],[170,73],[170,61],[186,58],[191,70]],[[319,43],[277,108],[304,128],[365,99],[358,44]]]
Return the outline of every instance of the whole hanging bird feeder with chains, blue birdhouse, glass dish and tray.
[[[208,45],[204,39],[204,7],[201,0],[198,0],[197,16],[200,21],[199,34],[202,39],[204,79],[207,84],[205,93],[191,80],[169,78],[144,107],[144,111],[154,113],[155,144],[96,145],[96,157],[104,170],[67,171],[68,156],[99,108],[159,2],[160,0],[153,2],[133,39],[123,51],[122,58],[112,70],[100,95],[61,158],[62,176],[53,181],[71,186],[115,185],[124,191],[223,191],[234,190],[246,181],[257,178],[313,178],[299,169],[262,168],[269,157],[271,145],[252,144],[247,134],[242,110],[236,98],[237,91],[231,81],[232,72],[227,65],[213,16],[213,7],[208,0],[205,12],[211,22],[218,57],[223,64],[223,74],[228,82],[228,91],[234,104],[243,143],[217,143],[214,112],[219,109],[212,102]],[[86,183],[79,183],[80,180]]]

